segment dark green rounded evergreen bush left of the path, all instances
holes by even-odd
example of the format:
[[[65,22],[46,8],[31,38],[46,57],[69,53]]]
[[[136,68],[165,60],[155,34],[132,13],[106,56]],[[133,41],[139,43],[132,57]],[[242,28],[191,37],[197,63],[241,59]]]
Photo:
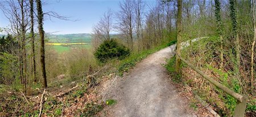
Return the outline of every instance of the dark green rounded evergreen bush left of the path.
[[[105,63],[109,59],[123,59],[130,55],[130,50],[118,44],[116,40],[106,40],[94,52],[94,56],[101,63]]]

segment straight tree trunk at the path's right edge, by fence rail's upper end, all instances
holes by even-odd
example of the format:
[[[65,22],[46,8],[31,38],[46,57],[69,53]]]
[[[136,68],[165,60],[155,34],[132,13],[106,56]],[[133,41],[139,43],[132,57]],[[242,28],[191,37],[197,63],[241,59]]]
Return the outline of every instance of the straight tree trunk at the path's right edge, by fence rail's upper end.
[[[177,50],[176,54],[181,57],[180,48],[181,48],[181,19],[182,19],[182,0],[177,1]],[[175,70],[177,73],[180,73],[180,58],[176,56]]]

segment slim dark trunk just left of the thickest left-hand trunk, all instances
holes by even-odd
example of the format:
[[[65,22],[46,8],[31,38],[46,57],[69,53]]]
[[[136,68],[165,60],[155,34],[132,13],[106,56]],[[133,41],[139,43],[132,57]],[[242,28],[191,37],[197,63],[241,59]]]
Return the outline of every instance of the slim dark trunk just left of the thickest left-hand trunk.
[[[35,64],[35,34],[34,34],[34,0],[30,0],[30,18],[31,18],[31,47],[32,47],[32,74],[34,81],[37,82],[36,79],[36,64]]]

